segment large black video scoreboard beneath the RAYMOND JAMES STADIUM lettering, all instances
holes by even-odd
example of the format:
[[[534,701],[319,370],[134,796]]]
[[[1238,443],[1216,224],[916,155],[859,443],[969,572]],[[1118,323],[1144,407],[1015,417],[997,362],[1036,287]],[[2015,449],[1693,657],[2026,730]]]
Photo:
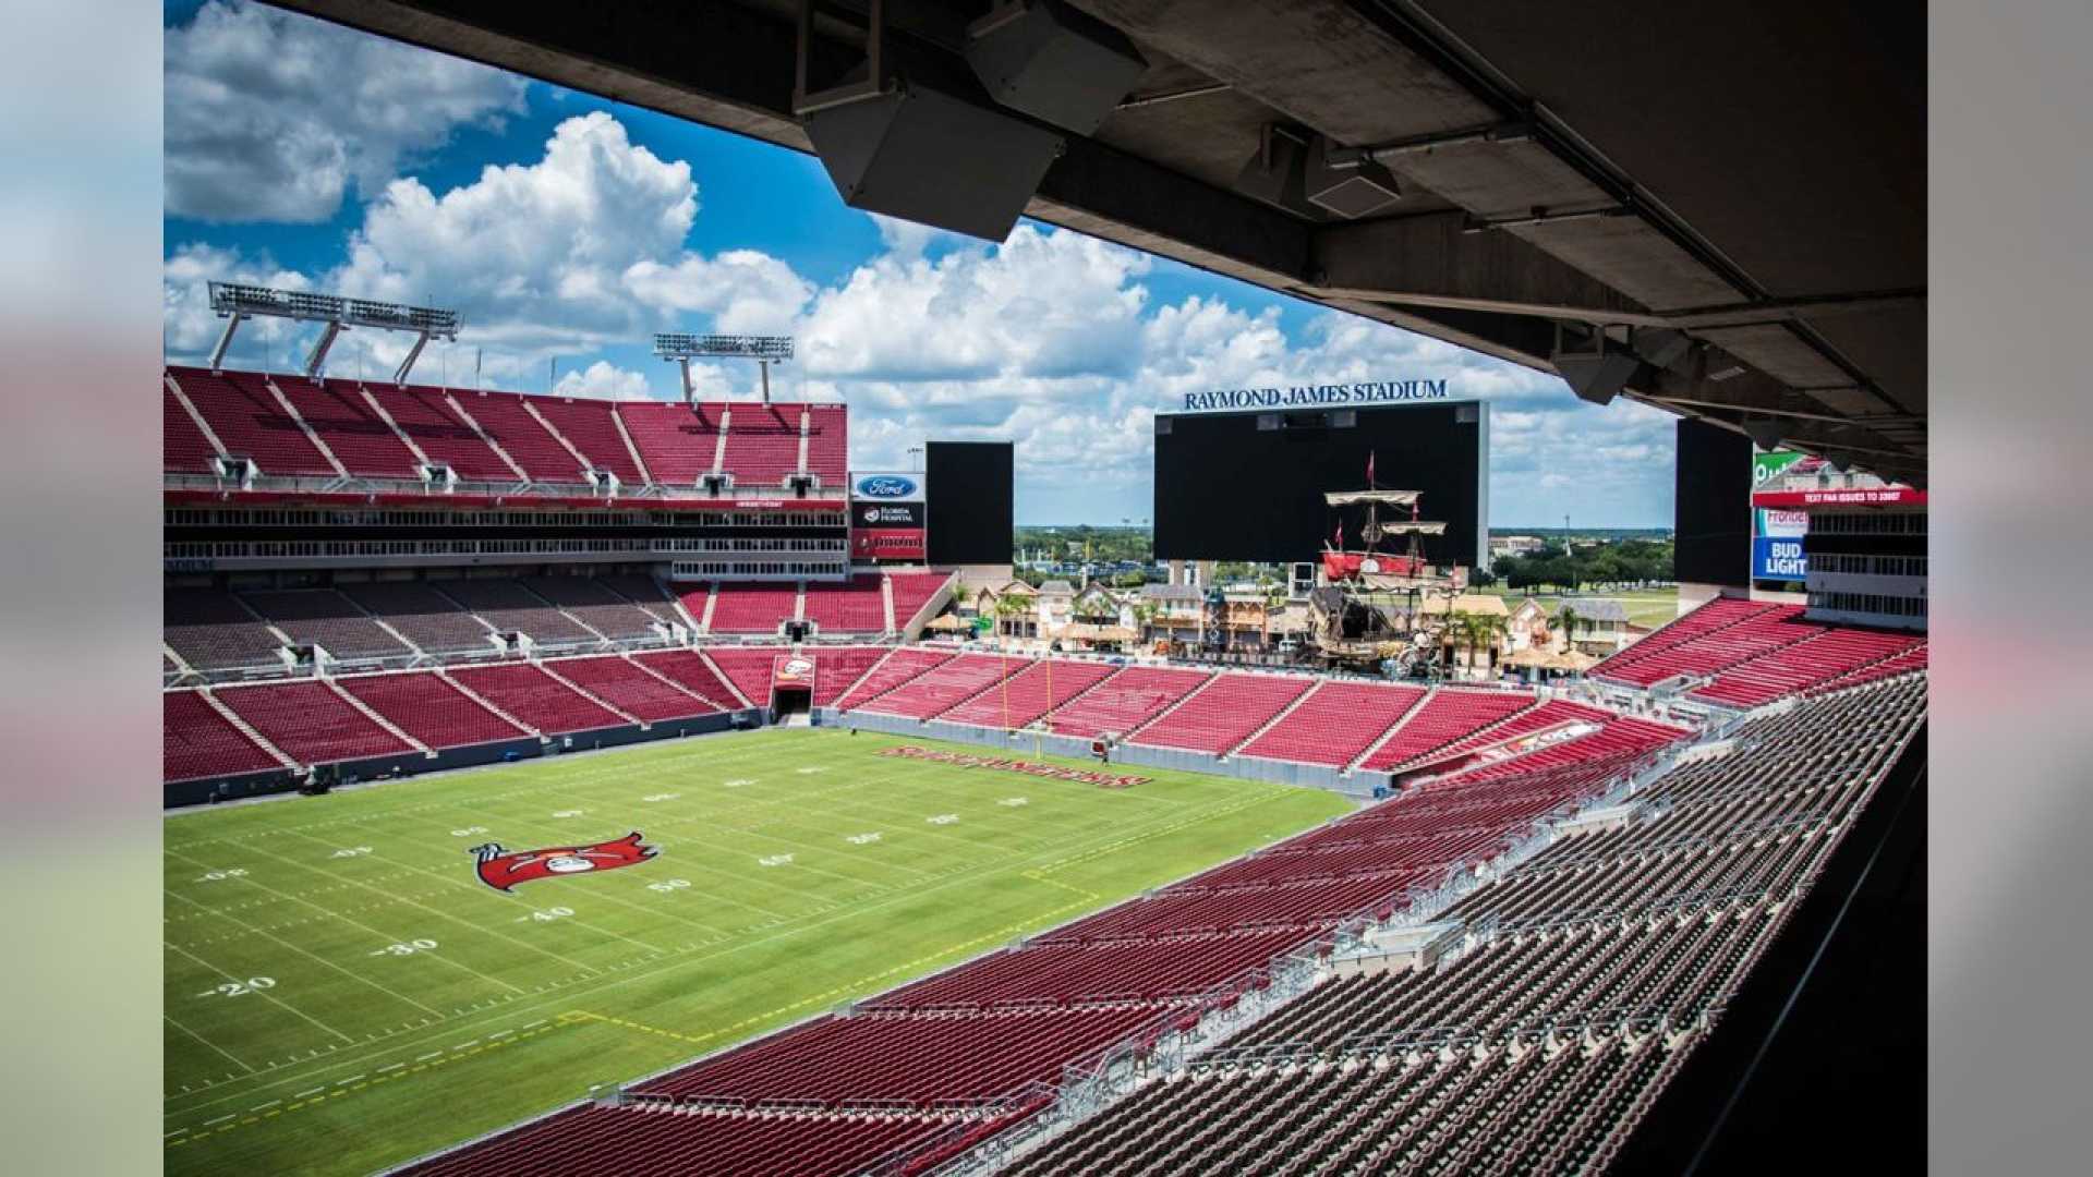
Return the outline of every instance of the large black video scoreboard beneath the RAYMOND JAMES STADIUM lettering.
[[[1432,563],[1488,565],[1490,406],[1438,400],[1155,417],[1160,559],[1314,559],[1333,538],[1329,490],[1419,490]],[[1346,538],[1356,542],[1356,534]]]

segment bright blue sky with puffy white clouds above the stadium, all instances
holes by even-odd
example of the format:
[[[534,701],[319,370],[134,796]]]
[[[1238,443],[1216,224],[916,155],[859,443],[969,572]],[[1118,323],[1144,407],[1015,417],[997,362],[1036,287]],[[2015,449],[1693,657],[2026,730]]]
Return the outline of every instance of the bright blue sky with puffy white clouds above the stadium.
[[[1046,224],[986,245],[873,218],[812,157],[276,8],[165,25],[172,360],[216,339],[211,279],[458,308],[417,379],[477,360],[525,392],[680,396],[655,331],[791,333],[772,387],[846,400],[852,465],[1015,440],[1023,524],[1147,517],[1153,413],[1185,392],[1442,377],[1492,402],[1492,526],[1670,524],[1672,419],[1639,404]],[[251,323],[230,362],[308,339]],[[329,371],[404,346],[352,333]],[[697,375],[753,396],[753,371]]]

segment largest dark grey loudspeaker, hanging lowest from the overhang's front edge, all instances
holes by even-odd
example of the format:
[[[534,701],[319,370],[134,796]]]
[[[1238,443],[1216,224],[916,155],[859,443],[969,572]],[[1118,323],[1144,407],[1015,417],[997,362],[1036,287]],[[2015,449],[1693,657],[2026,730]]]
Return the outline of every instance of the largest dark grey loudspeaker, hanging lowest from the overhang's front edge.
[[[806,115],[806,136],[854,209],[1003,241],[1061,136],[896,80],[877,96]]]

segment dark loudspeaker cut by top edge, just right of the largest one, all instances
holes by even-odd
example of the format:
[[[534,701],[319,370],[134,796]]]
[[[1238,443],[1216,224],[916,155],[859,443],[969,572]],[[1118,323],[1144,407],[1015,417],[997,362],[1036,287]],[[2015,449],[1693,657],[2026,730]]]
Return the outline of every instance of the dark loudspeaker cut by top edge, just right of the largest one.
[[[1084,136],[1149,67],[1120,29],[1061,0],[1011,0],[967,25],[967,65],[994,101]]]

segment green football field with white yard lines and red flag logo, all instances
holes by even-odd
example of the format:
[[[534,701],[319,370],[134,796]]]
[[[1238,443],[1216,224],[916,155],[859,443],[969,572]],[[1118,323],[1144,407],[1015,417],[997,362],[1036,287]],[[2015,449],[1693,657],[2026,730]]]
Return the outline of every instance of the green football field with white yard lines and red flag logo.
[[[170,817],[167,1171],[396,1164],[1348,808],[877,754],[896,743],[929,741],[770,729]],[[630,831],[657,857],[507,894],[475,873],[479,844]]]

